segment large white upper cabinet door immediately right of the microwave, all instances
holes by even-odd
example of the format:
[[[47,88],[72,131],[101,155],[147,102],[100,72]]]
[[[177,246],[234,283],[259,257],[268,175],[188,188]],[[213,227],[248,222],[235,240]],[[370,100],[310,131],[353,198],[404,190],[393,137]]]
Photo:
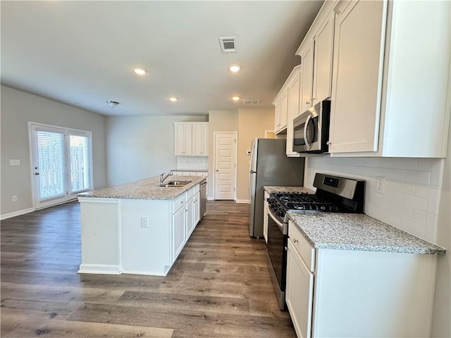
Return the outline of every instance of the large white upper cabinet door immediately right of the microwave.
[[[385,19],[386,1],[353,1],[337,12],[331,153],[378,149]]]

